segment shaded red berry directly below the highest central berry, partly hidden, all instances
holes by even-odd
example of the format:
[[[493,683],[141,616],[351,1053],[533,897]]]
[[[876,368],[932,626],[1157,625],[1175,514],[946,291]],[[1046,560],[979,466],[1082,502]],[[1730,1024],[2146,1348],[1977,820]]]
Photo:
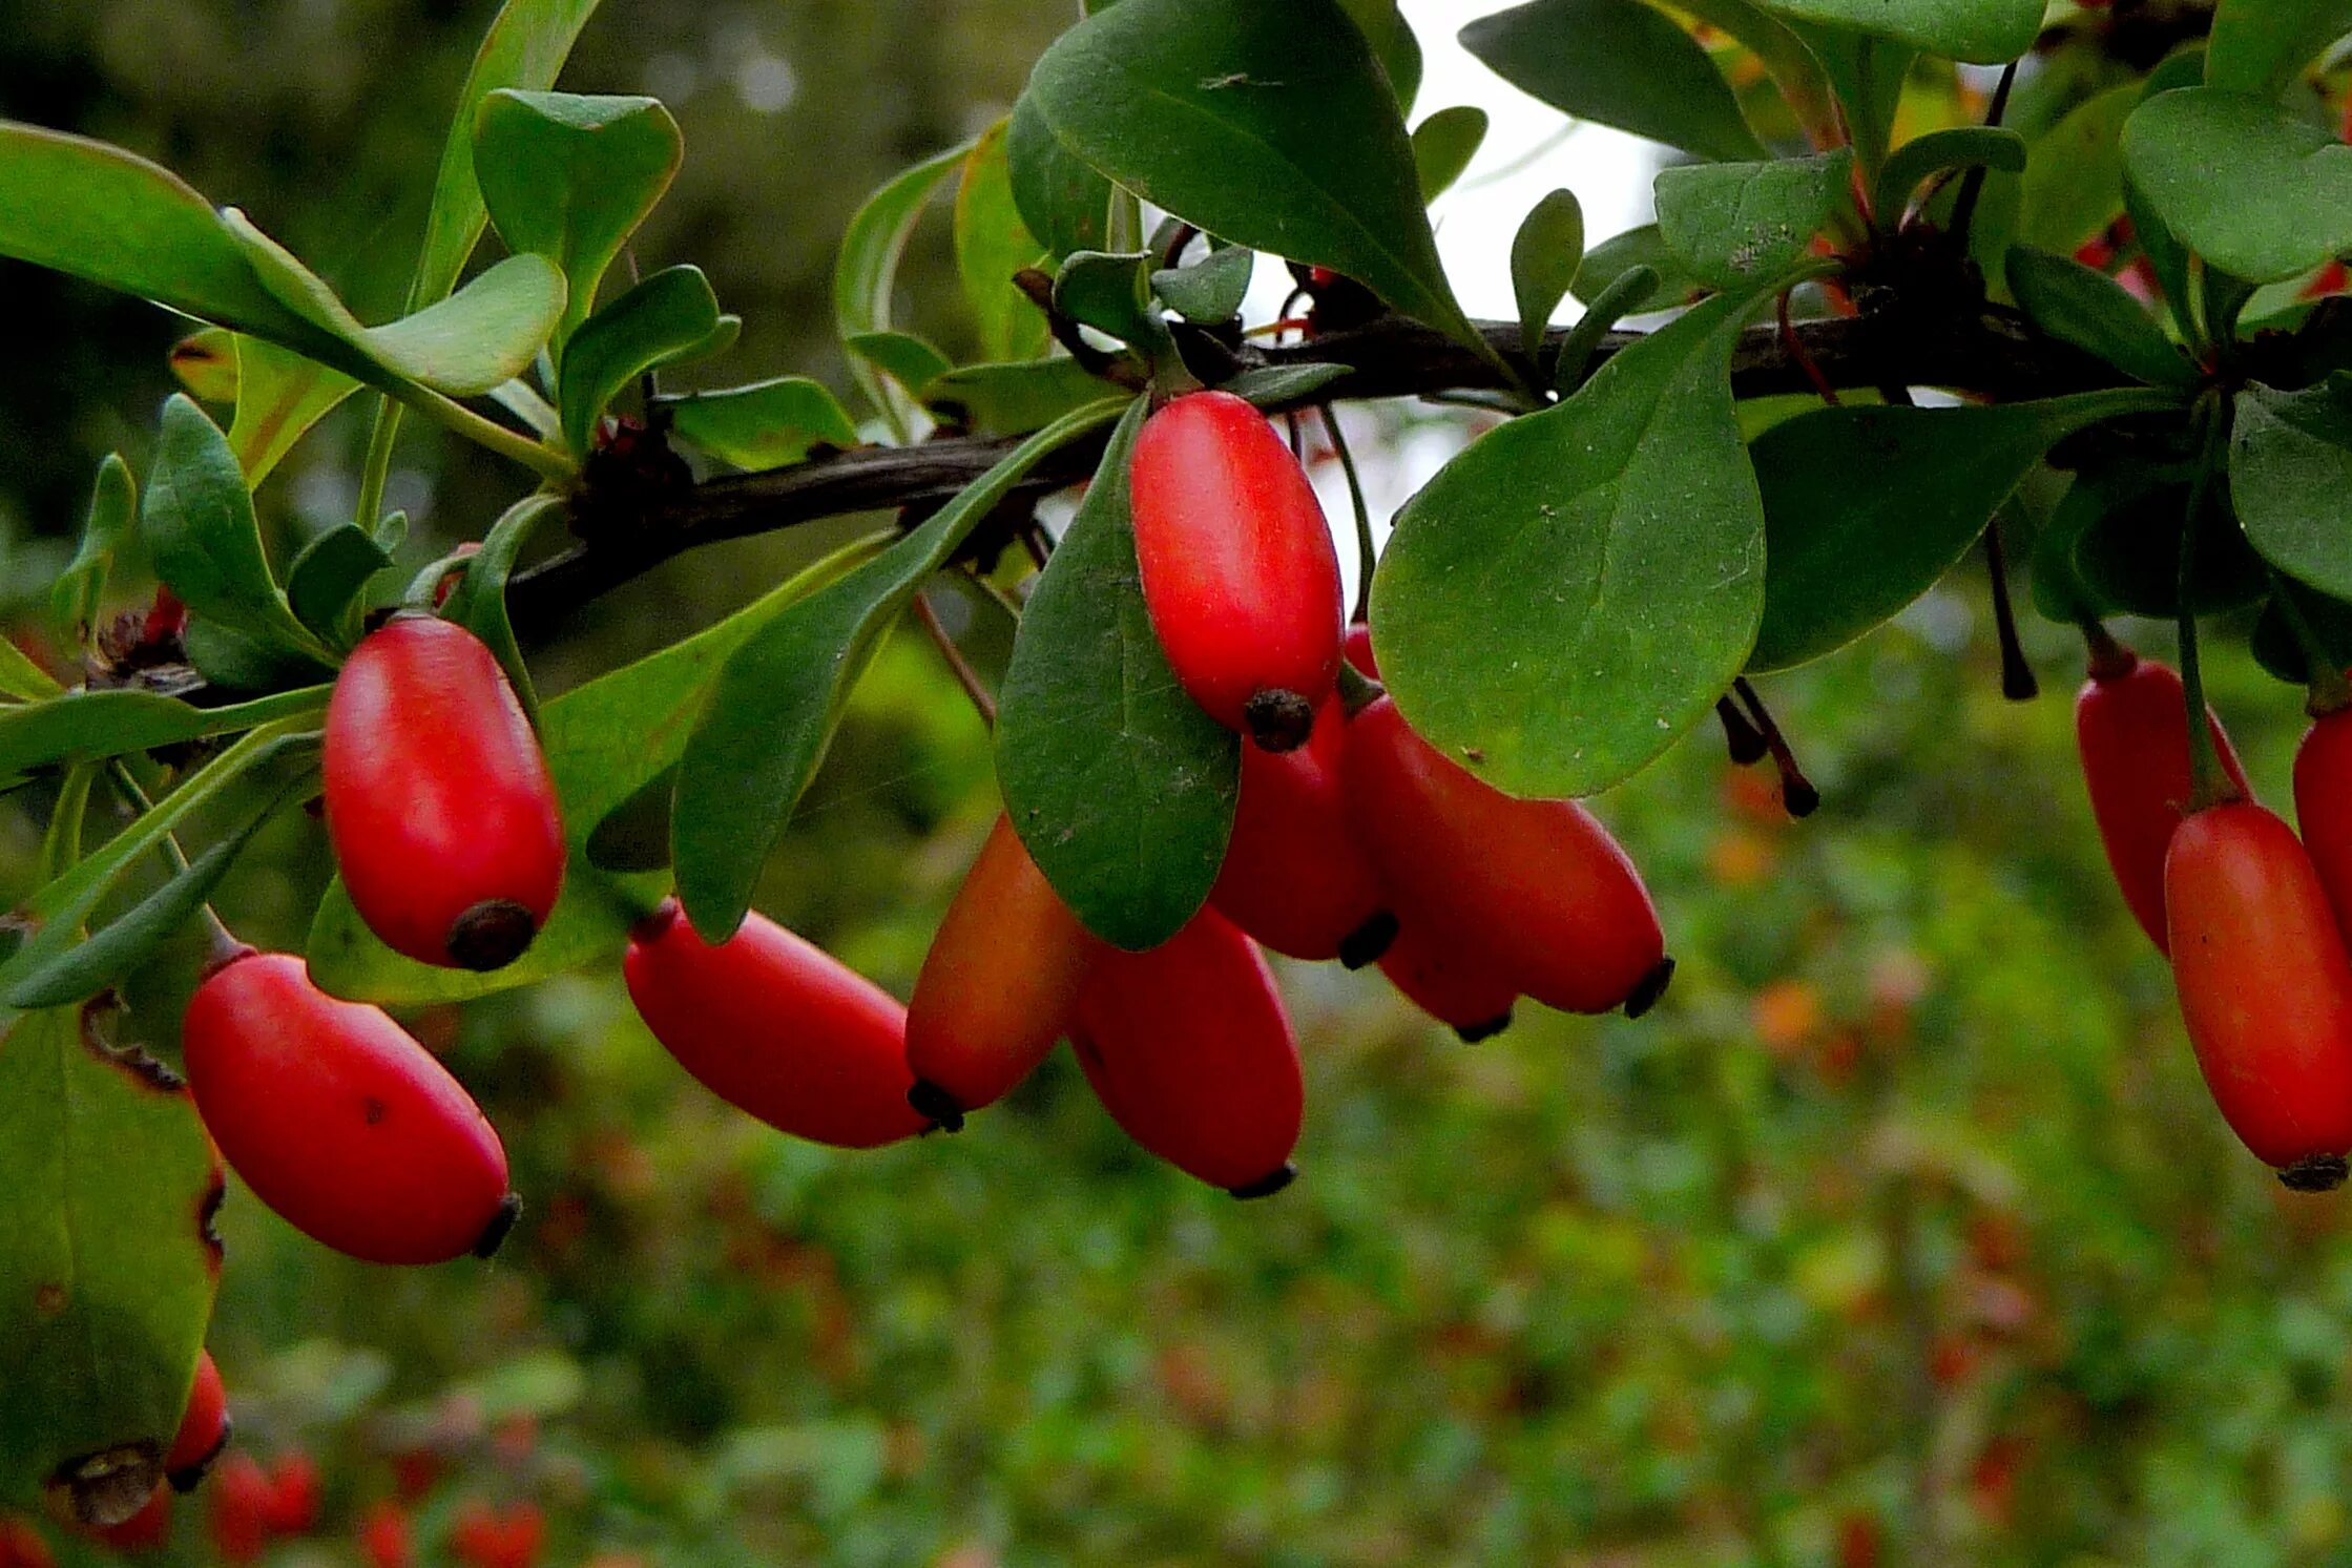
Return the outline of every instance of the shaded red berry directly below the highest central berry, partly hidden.
[[[1338,790],[1345,729],[1334,696],[1298,750],[1242,748],[1242,799],[1209,903],[1275,952],[1345,957],[1362,969],[1381,957],[1397,922],[1381,907],[1381,884],[1348,832]]]

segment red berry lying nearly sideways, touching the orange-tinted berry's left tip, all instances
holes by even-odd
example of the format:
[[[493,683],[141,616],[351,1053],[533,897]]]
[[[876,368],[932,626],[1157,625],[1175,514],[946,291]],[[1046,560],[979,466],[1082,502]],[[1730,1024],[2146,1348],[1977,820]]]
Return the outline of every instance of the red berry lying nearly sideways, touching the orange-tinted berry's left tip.
[[[844,1150],[931,1126],[906,1100],[906,1009],[764,914],[710,945],[663,900],[621,971],[654,1039],[736,1110]]]

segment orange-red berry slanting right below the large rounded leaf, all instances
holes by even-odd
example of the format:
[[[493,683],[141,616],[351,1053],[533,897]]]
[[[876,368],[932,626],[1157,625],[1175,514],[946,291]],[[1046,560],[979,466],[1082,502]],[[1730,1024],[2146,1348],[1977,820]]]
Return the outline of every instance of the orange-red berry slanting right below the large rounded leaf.
[[[1348,820],[1397,919],[1475,947],[1569,1013],[1644,1013],[1675,973],[1642,875],[1571,799],[1515,799],[1454,766],[1390,698],[1348,719]]]

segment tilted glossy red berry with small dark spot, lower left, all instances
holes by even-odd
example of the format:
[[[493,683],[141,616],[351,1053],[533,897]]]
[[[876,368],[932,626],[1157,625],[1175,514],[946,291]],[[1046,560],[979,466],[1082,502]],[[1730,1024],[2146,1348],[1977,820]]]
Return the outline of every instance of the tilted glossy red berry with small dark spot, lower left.
[[[188,1088],[221,1157],[296,1229],[369,1262],[489,1255],[520,1208],[506,1150],[383,1009],[287,952],[216,969],[186,1016]]]

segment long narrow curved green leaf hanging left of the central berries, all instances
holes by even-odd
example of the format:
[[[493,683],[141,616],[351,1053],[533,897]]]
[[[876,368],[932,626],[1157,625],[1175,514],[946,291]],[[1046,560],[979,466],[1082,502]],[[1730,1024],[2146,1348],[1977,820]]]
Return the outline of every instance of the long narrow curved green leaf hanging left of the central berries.
[[[743,924],[760,867],[823,762],[849,689],[922,581],[1030,468],[1120,407],[1098,402],[1021,442],[920,529],[762,625],[727,658],[677,769],[677,896],[696,931],[722,940]]]

